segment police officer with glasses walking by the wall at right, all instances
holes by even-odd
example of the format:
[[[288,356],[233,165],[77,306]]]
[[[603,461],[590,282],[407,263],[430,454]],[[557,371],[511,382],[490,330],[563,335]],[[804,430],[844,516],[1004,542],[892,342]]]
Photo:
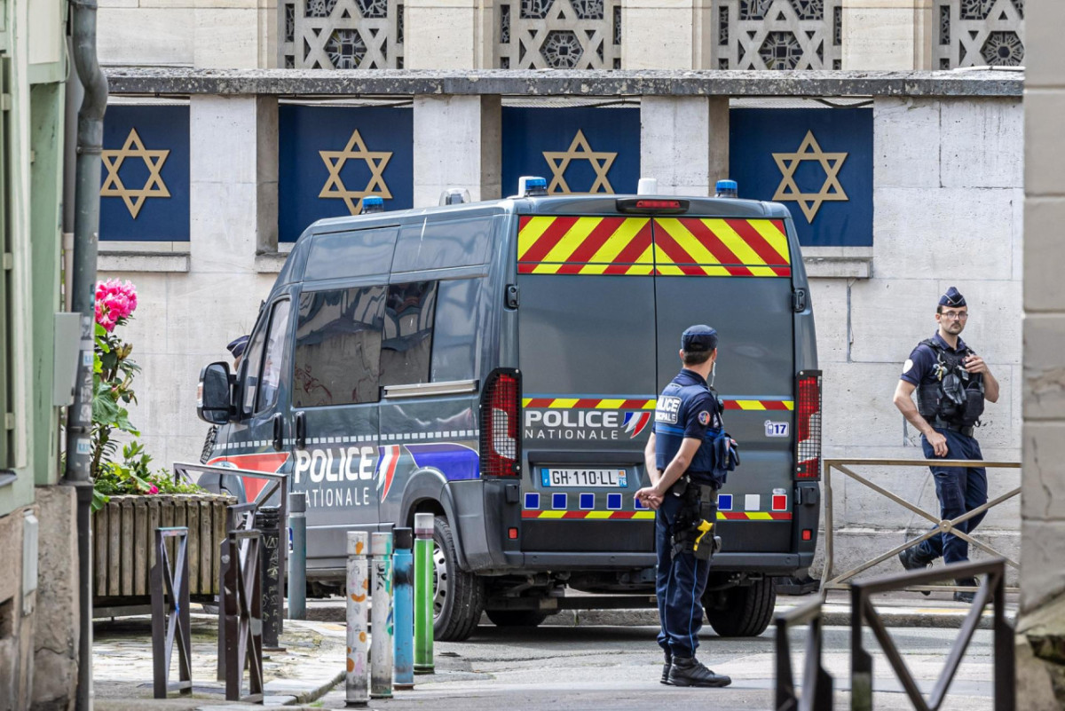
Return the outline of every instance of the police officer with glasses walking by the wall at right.
[[[951,286],[939,299],[935,319],[939,330],[914,348],[902,367],[895,390],[895,404],[921,432],[928,459],[983,459],[972,428],[984,411],[984,400],[997,402],[999,384],[984,360],[962,341],[969,318],[965,297]],[[917,390],[917,406],[911,396]],[[987,501],[987,470],[980,467],[932,465],[935,493],[943,518],[956,518]],[[984,514],[956,525],[971,533]],[[899,553],[902,565],[912,571],[929,566],[943,556],[945,563],[969,559],[969,544],[952,533],[933,535]],[[960,585],[976,585],[973,578],[958,579]],[[954,599],[971,602],[973,593],[956,592]]]

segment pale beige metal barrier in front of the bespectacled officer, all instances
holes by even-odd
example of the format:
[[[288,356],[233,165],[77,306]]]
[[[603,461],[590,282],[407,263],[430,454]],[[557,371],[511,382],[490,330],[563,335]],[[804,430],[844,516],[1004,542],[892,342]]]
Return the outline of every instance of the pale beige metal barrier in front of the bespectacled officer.
[[[856,576],[858,573],[862,573],[863,571],[867,571],[870,567],[872,567],[873,565],[876,565],[876,564],[882,563],[882,562],[884,562],[884,561],[886,561],[886,560],[888,560],[890,558],[894,558],[894,557],[898,556],[901,551],[905,550],[906,548],[908,548],[911,546],[914,546],[914,545],[917,545],[918,543],[920,543],[922,541],[925,541],[928,539],[931,539],[933,535],[939,535],[940,533],[952,533],[952,534],[956,535],[957,538],[960,538],[960,539],[962,539],[964,541],[967,541],[968,543],[972,544],[977,548],[980,548],[984,552],[986,552],[986,553],[988,553],[990,556],[994,556],[996,558],[1001,558],[1005,563],[1012,565],[1015,569],[1018,569],[1018,571],[1020,569],[1020,565],[1018,565],[1016,561],[1014,561],[1014,560],[1010,559],[1009,557],[1002,555],[998,550],[995,550],[994,548],[992,548],[987,544],[982,543],[982,542],[973,539],[972,536],[970,536],[965,531],[956,530],[956,526],[958,524],[961,524],[963,522],[966,522],[969,518],[972,518],[973,516],[977,516],[977,515],[979,515],[979,514],[987,511],[992,507],[998,506],[999,503],[1001,503],[1001,502],[1003,502],[1003,501],[1005,501],[1007,499],[1013,498],[1014,496],[1019,495],[1020,494],[1020,487],[1019,486],[1016,487],[1016,489],[1013,489],[1013,490],[1011,490],[1009,492],[1006,492],[1005,494],[1002,494],[1001,496],[995,497],[994,499],[987,501],[986,503],[983,503],[982,506],[979,506],[976,509],[973,509],[972,511],[968,511],[968,512],[964,513],[963,515],[957,516],[956,518],[940,519],[937,515],[935,515],[933,513],[930,513],[928,511],[924,511],[923,509],[921,509],[921,508],[919,508],[917,506],[914,506],[910,501],[906,501],[905,499],[901,498],[900,496],[894,494],[892,492],[887,491],[883,486],[880,486],[880,485],[873,483],[869,479],[867,479],[867,478],[865,478],[865,477],[863,477],[863,476],[854,473],[851,469],[851,467],[853,467],[853,466],[920,466],[920,467],[927,467],[927,466],[929,466],[930,462],[933,462],[933,461],[934,461],[934,463],[935,463],[936,466],[958,466],[958,467],[962,467],[962,466],[982,466],[982,467],[987,467],[987,468],[1000,468],[1000,469],[1019,469],[1020,468],[1020,462],[985,462],[985,461],[982,461],[982,460],[980,460],[980,461],[973,461],[973,460],[953,460],[953,459],[951,459],[951,460],[924,460],[924,459],[826,459],[826,460],[824,460],[824,486],[823,486],[823,490],[824,490],[824,568],[821,572],[821,589],[822,590],[834,590],[834,589],[847,588],[849,583],[847,583],[846,581],[850,580],[851,578],[853,578],[854,576]],[[862,563],[861,565],[858,565],[855,568],[852,568],[850,571],[847,571],[846,573],[841,573],[841,574],[833,577],[833,574],[835,572],[835,568],[834,568],[834,563],[835,563],[835,559],[834,559],[834,551],[835,551],[834,530],[835,530],[835,524],[834,524],[833,497],[832,497],[832,472],[833,472],[833,469],[837,469],[840,474],[846,475],[847,477],[850,477],[851,479],[853,479],[854,481],[857,481],[858,483],[865,484],[866,486],[868,486],[869,489],[873,490],[878,494],[881,494],[881,495],[887,497],[888,499],[895,501],[899,506],[901,506],[901,507],[903,507],[905,509],[908,509],[910,511],[914,512],[915,514],[917,514],[919,516],[922,516],[923,518],[925,518],[929,522],[931,522],[932,524],[934,524],[934,528],[932,528],[929,531],[925,531],[922,535],[919,535],[916,539],[912,539],[910,541],[906,541],[901,546],[896,546],[895,548],[892,548],[891,550],[887,551],[886,553],[882,553],[882,555],[878,556],[876,558],[873,558],[870,561],[866,561],[865,563]],[[936,579],[938,580],[940,578],[936,578]],[[931,585],[914,585],[914,586],[905,588],[905,590],[921,591],[921,592],[930,592],[930,591],[970,591],[970,592],[974,592],[977,589],[976,588],[968,588],[968,586],[960,586],[960,585],[934,585],[934,586],[931,586]],[[1016,588],[1007,588],[1006,592],[1017,592],[1017,590],[1018,589],[1016,589]]]

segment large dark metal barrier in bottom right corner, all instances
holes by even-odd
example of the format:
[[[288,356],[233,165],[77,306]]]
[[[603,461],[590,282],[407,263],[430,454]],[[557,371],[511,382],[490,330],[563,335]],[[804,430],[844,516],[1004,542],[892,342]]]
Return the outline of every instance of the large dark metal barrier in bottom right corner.
[[[916,590],[914,585],[922,583],[951,578],[971,578],[984,574],[987,575],[987,578],[977,588],[969,614],[966,615],[965,622],[958,630],[957,639],[947,656],[947,663],[936,680],[932,695],[925,701],[920,689],[917,688],[917,682],[914,681],[913,675],[906,667],[906,663],[902,660],[902,655],[899,654],[891,641],[891,635],[888,634],[884,621],[880,618],[873,607],[871,598],[878,593]],[[851,711],[872,710],[872,657],[862,644],[863,622],[867,623],[873,634],[876,635],[887,661],[891,664],[899,681],[902,682],[906,696],[914,708],[919,711],[935,711],[943,705],[947,696],[950,682],[954,680],[954,674],[957,672],[958,664],[962,663],[962,657],[972,640],[977,625],[980,624],[984,607],[990,601],[993,595],[993,609],[995,611],[995,709],[996,711],[1014,711],[1016,704],[1014,697],[1014,634],[1013,628],[1005,619],[1005,590],[1004,559],[945,565],[935,569],[913,571],[853,583],[851,585]]]

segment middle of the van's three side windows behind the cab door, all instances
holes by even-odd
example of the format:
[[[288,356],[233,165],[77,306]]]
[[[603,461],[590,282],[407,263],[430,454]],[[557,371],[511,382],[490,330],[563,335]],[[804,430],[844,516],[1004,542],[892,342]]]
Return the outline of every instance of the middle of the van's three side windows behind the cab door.
[[[391,284],[384,303],[381,385],[429,382],[437,282]]]

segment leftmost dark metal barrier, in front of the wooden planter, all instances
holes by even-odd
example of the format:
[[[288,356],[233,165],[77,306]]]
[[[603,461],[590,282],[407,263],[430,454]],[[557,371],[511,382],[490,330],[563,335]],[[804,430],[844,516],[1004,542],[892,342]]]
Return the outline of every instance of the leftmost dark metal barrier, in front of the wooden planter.
[[[167,539],[177,539],[174,566]],[[151,664],[155,698],[166,698],[171,690],[170,660],[178,645],[178,678],[173,689],[193,693],[192,626],[189,618],[189,529],[155,529],[155,564],[151,566]]]

